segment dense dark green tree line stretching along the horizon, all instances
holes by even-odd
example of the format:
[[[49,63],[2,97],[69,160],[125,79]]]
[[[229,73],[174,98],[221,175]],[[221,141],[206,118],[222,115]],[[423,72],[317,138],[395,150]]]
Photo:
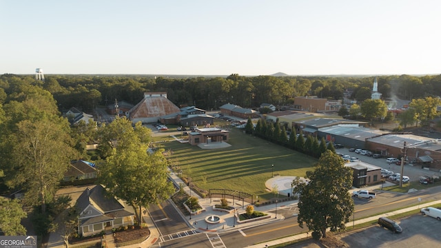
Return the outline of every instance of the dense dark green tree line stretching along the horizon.
[[[375,77],[329,76],[240,76],[188,77],[141,75],[47,75],[36,81],[32,75],[0,76],[0,103],[23,85],[39,85],[57,101],[59,110],[78,107],[92,112],[97,105],[127,101],[135,105],[143,92],[167,92],[167,98],[178,106],[196,105],[216,110],[225,103],[256,108],[261,103],[276,106],[294,103],[295,96],[316,95],[325,99],[365,101],[371,98]],[[378,76],[378,91],[384,99],[420,99],[441,95],[441,75]]]

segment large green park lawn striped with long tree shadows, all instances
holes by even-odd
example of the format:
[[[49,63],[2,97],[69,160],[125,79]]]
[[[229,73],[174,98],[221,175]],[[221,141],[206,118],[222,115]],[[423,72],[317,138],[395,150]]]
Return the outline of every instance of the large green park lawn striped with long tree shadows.
[[[275,145],[240,130],[230,130],[231,147],[201,149],[188,143],[171,141],[156,144],[171,151],[172,168],[180,168],[183,176],[202,189],[232,189],[269,200],[265,181],[274,176],[305,176],[316,158],[287,147]]]

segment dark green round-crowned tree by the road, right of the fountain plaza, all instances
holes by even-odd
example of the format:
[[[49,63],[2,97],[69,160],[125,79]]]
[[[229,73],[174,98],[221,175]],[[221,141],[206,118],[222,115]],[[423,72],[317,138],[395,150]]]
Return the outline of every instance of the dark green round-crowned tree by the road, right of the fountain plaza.
[[[352,170],[338,156],[327,150],[320,157],[314,172],[307,172],[309,183],[296,180],[298,201],[298,224],[307,225],[316,239],[326,237],[331,231],[345,229],[345,223],[353,212],[353,200],[348,190],[352,184]]]

